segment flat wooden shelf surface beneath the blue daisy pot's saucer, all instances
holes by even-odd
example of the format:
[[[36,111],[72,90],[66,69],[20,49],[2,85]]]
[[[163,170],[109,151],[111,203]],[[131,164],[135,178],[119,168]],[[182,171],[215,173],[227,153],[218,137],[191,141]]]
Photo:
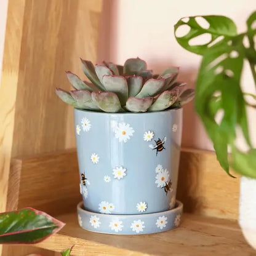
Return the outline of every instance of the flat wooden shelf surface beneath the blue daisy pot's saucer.
[[[61,252],[74,244],[72,255],[255,255],[236,222],[183,214],[179,228],[158,234],[124,236],[82,230],[77,215],[58,216],[60,233],[37,244]]]

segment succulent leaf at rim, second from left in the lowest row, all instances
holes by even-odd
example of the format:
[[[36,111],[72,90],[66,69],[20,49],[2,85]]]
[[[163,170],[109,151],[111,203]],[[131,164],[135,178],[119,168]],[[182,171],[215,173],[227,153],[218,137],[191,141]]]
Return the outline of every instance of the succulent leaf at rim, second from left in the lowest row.
[[[89,90],[71,90],[70,94],[76,101],[76,108],[82,108],[84,110],[100,110],[100,108],[93,102]]]

